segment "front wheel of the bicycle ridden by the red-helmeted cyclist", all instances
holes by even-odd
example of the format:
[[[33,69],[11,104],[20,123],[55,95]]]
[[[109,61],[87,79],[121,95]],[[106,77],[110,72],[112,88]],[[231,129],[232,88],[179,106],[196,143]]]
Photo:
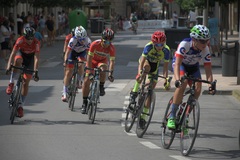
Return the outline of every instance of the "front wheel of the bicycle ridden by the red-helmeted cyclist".
[[[144,104],[147,101],[147,99],[150,99],[149,112],[144,113]],[[143,137],[143,135],[148,129],[149,124],[151,123],[151,119],[152,119],[153,111],[155,107],[155,101],[156,101],[156,94],[154,91],[152,91],[152,93],[145,93],[143,107],[141,107],[141,114],[138,115],[138,119],[137,119],[136,134],[139,138]]]

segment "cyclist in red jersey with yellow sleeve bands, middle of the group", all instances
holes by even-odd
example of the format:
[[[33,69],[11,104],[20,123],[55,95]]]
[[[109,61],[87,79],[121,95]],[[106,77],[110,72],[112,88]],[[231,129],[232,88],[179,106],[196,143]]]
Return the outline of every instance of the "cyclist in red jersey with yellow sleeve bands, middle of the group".
[[[92,42],[88,55],[87,55],[87,64],[89,68],[100,67],[102,70],[109,68],[111,72],[108,73],[108,79],[110,82],[114,81],[113,70],[115,63],[115,47],[112,44],[114,38],[113,30],[107,28],[102,32],[102,38]],[[109,61],[108,61],[109,60]],[[109,64],[109,66],[108,66]],[[83,105],[82,105],[82,114],[86,113],[87,107],[87,98],[89,94],[90,78],[91,72],[87,71],[83,83]],[[104,83],[106,80],[106,72],[100,73],[100,96],[105,95]]]

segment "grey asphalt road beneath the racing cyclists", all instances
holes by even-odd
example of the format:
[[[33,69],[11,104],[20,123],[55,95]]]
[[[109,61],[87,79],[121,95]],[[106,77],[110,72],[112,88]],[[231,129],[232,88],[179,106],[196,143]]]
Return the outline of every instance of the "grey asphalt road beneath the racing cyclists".
[[[150,32],[116,34],[117,60],[114,83],[106,82],[106,95],[90,124],[80,113],[81,91],[75,110],[61,102],[63,41],[42,49],[40,81],[31,81],[24,106],[25,115],[9,121],[8,76],[0,80],[0,159],[1,160],[219,160],[240,159],[238,144],[240,103],[229,95],[202,95],[198,137],[189,157],[180,153],[178,136],[169,150],[161,146],[160,123],[173,92],[158,90],[155,111],[148,131],[137,138],[135,126],[124,132],[124,108],[134,84],[138,58]],[[98,37],[93,37],[98,38]]]

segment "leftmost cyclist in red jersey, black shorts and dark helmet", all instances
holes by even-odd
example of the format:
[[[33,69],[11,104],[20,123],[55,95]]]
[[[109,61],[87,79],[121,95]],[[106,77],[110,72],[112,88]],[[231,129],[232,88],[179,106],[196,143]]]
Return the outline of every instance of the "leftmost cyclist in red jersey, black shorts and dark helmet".
[[[28,94],[28,86],[30,79],[33,78],[34,81],[38,81],[38,63],[39,63],[39,53],[40,53],[40,42],[34,38],[35,30],[32,27],[25,27],[23,30],[23,36],[19,37],[13,47],[12,53],[9,57],[6,73],[10,72],[10,66],[13,63],[14,66],[24,65],[28,69],[34,70],[33,73],[24,74],[24,83],[21,94],[21,105],[18,106],[17,112],[18,117],[23,117],[23,105]],[[14,61],[14,62],[13,62]],[[10,95],[13,91],[14,80],[17,76],[17,70],[13,69],[11,71],[10,83],[6,89],[6,93]]]

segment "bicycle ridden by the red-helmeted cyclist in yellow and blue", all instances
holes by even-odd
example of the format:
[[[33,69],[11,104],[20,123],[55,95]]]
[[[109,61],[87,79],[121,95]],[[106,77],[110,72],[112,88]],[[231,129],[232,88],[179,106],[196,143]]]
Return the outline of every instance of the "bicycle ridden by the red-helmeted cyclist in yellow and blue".
[[[136,126],[136,134],[139,138],[142,138],[145,132],[147,131],[147,128],[151,122],[153,111],[155,107],[155,101],[156,101],[156,94],[153,90],[153,83],[154,83],[154,76],[158,76],[163,79],[167,79],[167,82],[170,84],[172,77],[163,77],[156,74],[148,73],[148,76],[151,76],[150,82],[146,83],[146,77],[143,77],[143,81],[141,83],[141,87],[138,91],[138,100],[137,101],[131,101],[126,109],[126,117],[125,117],[125,131],[129,132],[132,129],[132,126],[137,119],[137,126]],[[147,99],[150,100],[150,107],[149,112],[144,113],[144,104],[147,103]],[[144,127],[141,127],[140,125],[140,119],[141,115],[145,116],[145,125]]]

